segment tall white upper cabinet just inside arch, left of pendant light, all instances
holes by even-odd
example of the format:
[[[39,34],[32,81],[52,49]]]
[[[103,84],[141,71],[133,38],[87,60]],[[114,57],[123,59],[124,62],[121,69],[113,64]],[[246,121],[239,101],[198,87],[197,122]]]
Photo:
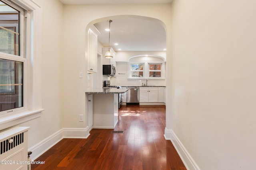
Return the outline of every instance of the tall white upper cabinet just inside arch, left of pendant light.
[[[88,72],[97,72],[97,44],[99,31],[92,26],[88,30]]]

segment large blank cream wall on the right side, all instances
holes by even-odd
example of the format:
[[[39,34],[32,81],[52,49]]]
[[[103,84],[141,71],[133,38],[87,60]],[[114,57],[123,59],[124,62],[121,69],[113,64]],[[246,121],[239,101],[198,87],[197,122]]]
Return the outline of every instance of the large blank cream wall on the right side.
[[[256,167],[255,9],[254,0],[172,3],[171,129],[198,169]]]

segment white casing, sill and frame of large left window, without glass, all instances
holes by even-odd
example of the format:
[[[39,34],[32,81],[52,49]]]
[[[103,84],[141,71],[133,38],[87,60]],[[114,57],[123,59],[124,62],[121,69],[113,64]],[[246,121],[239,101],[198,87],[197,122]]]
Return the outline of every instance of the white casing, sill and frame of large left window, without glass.
[[[0,130],[40,117],[42,109],[42,8],[32,0],[2,0],[6,4],[17,4],[27,12],[25,44],[20,41],[20,57],[1,57],[24,63],[24,104],[22,108],[3,111],[0,114]],[[23,25],[24,26],[24,25]],[[21,27],[23,27],[21,25]],[[21,32],[21,31],[20,31]],[[21,35],[23,33],[21,32]],[[26,49],[24,49],[24,48]],[[22,49],[23,48],[23,49]],[[24,54],[24,55],[22,55]],[[11,111],[11,112],[10,112]]]

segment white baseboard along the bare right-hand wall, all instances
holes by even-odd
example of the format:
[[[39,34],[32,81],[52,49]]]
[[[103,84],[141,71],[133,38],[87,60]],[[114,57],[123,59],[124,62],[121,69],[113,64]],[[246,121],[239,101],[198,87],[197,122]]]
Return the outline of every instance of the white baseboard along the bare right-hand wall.
[[[174,131],[170,129],[164,129],[164,137],[166,140],[170,140],[177,150],[182,162],[188,170],[200,170],[194,159],[190,156],[186,148],[182,145]]]

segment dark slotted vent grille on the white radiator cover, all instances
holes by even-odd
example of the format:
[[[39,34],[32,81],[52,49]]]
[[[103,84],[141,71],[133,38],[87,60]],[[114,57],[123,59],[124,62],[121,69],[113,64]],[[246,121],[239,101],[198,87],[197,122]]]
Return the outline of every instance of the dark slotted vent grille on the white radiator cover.
[[[9,143],[9,141],[11,139],[13,140],[13,142]],[[0,155],[4,154],[8,150],[11,150],[11,149],[15,148],[16,146],[18,146],[22,143],[24,143],[24,133],[20,133],[18,135],[15,135],[15,136],[9,138],[9,139],[6,139],[5,141],[2,141],[0,143],[0,146],[1,146]]]

